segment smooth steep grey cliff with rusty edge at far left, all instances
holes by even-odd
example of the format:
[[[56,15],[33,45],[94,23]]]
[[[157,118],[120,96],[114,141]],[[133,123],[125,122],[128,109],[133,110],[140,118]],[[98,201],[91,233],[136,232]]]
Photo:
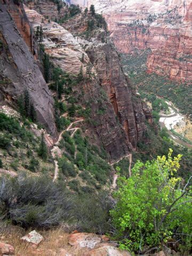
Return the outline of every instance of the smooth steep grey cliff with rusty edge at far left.
[[[53,100],[30,52],[33,47],[33,36],[25,11],[13,1],[1,1],[0,10],[1,103],[15,105],[18,97],[27,89],[31,102],[34,103],[38,121],[55,136]],[[18,27],[17,23],[20,24]]]

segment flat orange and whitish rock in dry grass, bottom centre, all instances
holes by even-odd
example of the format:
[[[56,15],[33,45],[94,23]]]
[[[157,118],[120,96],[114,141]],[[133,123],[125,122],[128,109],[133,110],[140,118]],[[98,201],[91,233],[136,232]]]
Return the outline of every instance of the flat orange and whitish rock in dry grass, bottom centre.
[[[93,249],[101,242],[101,238],[93,233],[76,233],[69,235],[69,244]]]

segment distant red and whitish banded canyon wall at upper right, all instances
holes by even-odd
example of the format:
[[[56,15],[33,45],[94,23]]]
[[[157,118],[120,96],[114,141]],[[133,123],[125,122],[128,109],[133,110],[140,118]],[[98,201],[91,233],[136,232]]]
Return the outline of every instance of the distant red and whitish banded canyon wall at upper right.
[[[149,72],[192,80],[191,1],[101,1],[88,5],[102,13],[118,51],[151,49]]]

